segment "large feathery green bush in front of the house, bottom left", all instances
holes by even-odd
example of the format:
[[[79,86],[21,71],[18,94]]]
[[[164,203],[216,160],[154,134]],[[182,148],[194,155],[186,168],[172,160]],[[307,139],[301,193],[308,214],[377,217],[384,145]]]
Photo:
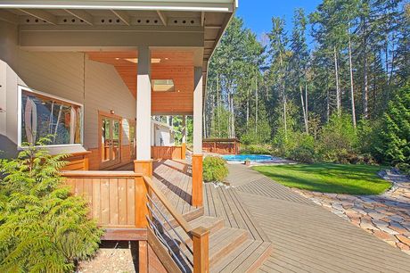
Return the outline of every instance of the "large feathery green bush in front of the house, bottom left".
[[[59,175],[68,155],[38,147],[47,143],[0,161],[0,272],[72,272],[98,249],[102,230]]]

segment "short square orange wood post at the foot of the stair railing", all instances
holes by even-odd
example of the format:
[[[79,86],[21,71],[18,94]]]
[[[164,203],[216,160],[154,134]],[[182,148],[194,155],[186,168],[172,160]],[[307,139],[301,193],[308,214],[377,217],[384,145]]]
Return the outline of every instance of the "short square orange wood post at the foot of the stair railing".
[[[193,273],[209,272],[209,229],[196,227],[193,236]]]

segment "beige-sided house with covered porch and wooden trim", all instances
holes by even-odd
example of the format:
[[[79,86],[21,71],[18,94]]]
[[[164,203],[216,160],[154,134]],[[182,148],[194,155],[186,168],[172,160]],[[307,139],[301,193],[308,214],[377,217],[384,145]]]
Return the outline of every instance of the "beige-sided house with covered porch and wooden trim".
[[[55,136],[46,147],[71,154],[67,183],[89,198],[105,239],[150,243],[152,160],[182,158],[185,147],[152,147],[152,116],[193,116],[191,194],[201,207],[208,63],[236,7],[235,0],[0,1],[2,156]],[[134,171],[107,171],[129,163]],[[189,231],[193,271],[208,270],[208,234]]]

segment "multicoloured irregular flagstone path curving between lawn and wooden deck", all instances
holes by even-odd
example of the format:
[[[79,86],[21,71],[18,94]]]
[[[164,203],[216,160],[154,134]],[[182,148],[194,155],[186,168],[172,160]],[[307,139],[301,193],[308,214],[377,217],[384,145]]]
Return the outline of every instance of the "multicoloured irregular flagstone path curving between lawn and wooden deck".
[[[293,191],[410,254],[410,179],[392,171],[384,171],[381,177],[393,183],[381,195]]]

